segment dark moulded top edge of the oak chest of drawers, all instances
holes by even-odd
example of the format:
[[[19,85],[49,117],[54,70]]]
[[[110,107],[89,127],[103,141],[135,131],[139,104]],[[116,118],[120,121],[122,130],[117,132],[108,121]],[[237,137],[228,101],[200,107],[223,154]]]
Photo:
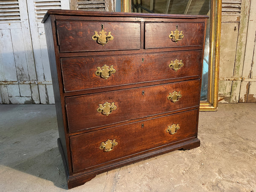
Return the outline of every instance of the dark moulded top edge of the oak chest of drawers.
[[[44,15],[41,23],[47,20],[49,15],[70,15],[70,16],[101,16],[101,17],[162,17],[162,18],[208,18],[207,15],[178,15],[178,14],[159,14],[159,13],[125,13],[125,12],[93,12],[79,10],[49,9]]]

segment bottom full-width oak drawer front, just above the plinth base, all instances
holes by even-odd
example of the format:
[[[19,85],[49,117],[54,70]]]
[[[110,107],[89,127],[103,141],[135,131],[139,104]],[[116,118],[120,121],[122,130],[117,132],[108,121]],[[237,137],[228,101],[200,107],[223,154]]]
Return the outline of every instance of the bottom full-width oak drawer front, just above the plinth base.
[[[197,114],[197,110],[188,111],[71,136],[73,171],[104,166],[132,154],[196,137]],[[173,124],[178,124],[179,128]],[[167,132],[169,126],[172,134]],[[112,147],[113,140],[117,144]]]

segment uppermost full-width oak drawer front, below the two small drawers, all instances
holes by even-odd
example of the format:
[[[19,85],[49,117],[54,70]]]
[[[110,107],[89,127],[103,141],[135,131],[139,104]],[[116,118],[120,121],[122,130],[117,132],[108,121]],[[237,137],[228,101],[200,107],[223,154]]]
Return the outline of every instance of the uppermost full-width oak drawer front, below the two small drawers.
[[[202,63],[202,50],[61,58],[61,69],[64,91],[69,92],[200,76],[199,63]]]

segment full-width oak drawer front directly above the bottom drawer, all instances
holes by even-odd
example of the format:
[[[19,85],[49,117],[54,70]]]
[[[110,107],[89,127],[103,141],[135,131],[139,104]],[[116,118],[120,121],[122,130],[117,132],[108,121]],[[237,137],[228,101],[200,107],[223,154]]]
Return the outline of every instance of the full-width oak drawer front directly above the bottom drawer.
[[[67,97],[65,102],[69,131],[198,106],[199,95],[200,80],[193,80]]]

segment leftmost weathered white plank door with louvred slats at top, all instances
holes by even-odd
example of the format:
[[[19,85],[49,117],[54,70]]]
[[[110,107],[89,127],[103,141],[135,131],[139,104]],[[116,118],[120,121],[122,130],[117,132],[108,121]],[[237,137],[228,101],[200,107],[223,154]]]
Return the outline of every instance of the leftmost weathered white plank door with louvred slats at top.
[[[0,103],[40,103],[26,0],[0,1]]]

